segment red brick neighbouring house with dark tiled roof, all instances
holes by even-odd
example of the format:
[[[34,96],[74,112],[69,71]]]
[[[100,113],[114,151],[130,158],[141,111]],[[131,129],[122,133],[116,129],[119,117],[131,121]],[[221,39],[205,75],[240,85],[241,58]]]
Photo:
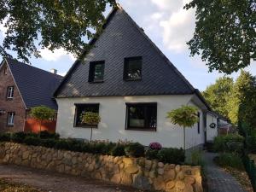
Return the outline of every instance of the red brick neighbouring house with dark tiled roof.
[[[52,94],[62,77],[6,58],[0,64],[0,131],[24,131],[30,108],[57,110]]]

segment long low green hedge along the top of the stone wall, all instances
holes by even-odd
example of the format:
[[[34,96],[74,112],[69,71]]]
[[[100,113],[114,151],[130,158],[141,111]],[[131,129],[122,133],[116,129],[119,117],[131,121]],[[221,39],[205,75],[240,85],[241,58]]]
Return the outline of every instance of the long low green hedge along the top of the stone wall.
[[[182,148],[148,149],[140,143],[98,143],[84,142],[78,139],[62,139],[58,134],[40,132],[39,134],[17,132],[0,133],[0,142],[24,143],[26,145],[43,146],[91,154],[108,154],[113,156],[146,157],[148,160],[160,160],[164,163],[182,164],[185,159]]]

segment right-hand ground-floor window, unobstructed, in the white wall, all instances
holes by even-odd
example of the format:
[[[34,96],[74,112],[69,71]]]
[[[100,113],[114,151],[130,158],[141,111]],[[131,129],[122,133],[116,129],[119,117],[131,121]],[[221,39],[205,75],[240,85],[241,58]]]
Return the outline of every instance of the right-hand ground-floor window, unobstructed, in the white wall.
[[[157,103],[126,103],[126,129],[156,131]]]

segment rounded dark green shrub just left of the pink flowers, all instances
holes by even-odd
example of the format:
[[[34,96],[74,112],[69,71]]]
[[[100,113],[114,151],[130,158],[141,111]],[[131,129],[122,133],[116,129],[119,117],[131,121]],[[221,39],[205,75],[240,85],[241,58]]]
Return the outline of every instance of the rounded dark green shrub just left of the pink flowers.
[[[129,157],[143,157],[145,154],[145,149],[140,143],[129,143],[125,147],[125,154]]]

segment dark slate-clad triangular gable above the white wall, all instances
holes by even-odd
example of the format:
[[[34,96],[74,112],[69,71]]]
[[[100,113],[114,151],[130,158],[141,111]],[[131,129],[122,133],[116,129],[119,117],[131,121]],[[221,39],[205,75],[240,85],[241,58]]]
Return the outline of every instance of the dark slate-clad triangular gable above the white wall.
[[[194,94],[195,88],[177,71],[134,20],[119,6],[108,15],[102,34],[90,42],[84,59],[75,61],[55,97],[149,96]],[[143,56],[143,80],[123,80],[124,58]],[[90,61],[105,61],[102,84],[88,82]]]

